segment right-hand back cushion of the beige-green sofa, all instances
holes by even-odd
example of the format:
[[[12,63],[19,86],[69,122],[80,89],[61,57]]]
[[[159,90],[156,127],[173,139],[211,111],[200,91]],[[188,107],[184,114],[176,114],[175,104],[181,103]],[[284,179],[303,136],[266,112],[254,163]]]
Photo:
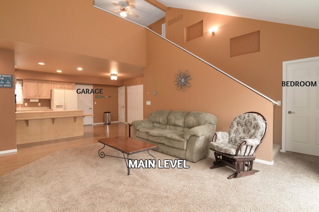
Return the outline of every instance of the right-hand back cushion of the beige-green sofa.
[[[205,124],[217,124],[217,118],[210,113],[191,111],[185,116],[185,127],[193,128]]]

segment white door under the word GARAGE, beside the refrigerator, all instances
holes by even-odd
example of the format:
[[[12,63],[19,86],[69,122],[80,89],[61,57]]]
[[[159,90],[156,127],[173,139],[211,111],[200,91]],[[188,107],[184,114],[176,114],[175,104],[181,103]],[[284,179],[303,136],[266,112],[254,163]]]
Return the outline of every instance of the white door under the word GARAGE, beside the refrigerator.
[[[75,89],[93,89],[93,85],[76,84]],[[81,93],[78,94],[78,109],[83,110],[84,113],[93,114],[93,94]],[[93,116],[85,116],[83,125],[92,125]]]

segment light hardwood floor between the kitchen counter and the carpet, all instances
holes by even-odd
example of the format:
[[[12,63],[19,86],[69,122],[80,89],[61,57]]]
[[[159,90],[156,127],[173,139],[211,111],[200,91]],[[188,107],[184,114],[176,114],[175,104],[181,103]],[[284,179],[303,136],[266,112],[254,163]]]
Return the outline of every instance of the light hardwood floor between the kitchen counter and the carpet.
[[[84,126],[83,136],[20,144],[17,146],[17,152],[0,155],[0,176],[57,150],[97,143],[99,139],[116,136],[128,137],[129,125],[112,123],[110,125]]]

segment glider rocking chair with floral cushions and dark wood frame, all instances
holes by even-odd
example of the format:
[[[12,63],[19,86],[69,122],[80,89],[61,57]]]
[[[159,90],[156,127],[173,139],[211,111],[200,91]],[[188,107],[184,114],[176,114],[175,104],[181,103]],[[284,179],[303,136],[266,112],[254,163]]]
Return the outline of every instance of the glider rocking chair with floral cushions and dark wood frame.
[[[229,127],[229,132],[216,132],[209,148],[214,151],[215,161],[210,169],[230,166],[236,173],[228,179],[255,174],[253,169],[255,152],[265,138],[268,124],[258,112],[248,112],[237,116]]]

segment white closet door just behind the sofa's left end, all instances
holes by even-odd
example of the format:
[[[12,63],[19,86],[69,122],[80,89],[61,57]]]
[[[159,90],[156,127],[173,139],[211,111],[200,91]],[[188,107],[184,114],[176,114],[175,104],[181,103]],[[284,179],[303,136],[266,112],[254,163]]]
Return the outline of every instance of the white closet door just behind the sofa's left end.
[[[143,119],[143,85],[127,87],[128,123]]]

